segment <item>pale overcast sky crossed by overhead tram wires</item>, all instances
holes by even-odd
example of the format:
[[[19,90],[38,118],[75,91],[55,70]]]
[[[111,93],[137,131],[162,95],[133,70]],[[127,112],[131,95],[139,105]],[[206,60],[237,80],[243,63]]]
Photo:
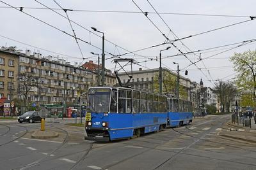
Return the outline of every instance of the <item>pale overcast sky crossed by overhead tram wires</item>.
[[[3,2],[14,7],[22,6],[24,7],[23,12],[49,25],[19,10],[5,8],[10,6]],[[21,50],[29,49],[32,52],[40,52],[44,56],[52,55],[57,57],[59,55],[60,58],[64,58],[70,62],[85,62],[88,60],[97,62],[97,55],[93,56],[90,52],[102,53],[102,34],[91,29],[91,27],[95,27],[99,31],[104,32],[106,38],[106,59],[112,57],[108,53],[119,55],[162,43],[169,43],[122,55],[122,57],[133,58],[140,64],[140,66],[134,64],[134,70],[138,70],[140,67],[142,69],[157,68],[159,67],[159,51],[171,46],[169,50],[162,52],[163,67],[176,70],[177,66],[173,62],[178,62],[182,76],[184,76],[184,71],[188,70],[188,76],[186,77],[191,81],[199,82],[200,78],[202,78],[205,86],[213,87],[215,80],[220,79],[226,81],[236,77],[236,73],[232,69],[232,63],[228,60],[230,56],[234,55],[234,52],[255,50],[255,42],[236,48],[242,44],[240,42],[256,38],[256,19],[250,20],[250,16],[256,16],[256,1],[253,0],[150,0],[149,3],[148,1],[141,0],[134,0],[134,3],[124,0],[56,0],[62,8],[73,10],[67,11],[67,13],[70,20],[73,21],[71,24],[77,38],[83,40],[78,40],[82,53],[77,46],[76,40],[68,36],[68,34],[73,35],[73,32],[67,18],[61,17],[61,15],[66,17],[65,12],[58,10],[60,6],[54,3],[54,1],[38,0],[38,2],[49,8],[57,9],[55,11],[61,15],[49,9],[38,9],[46,7],[36,1],[10,0],[3,2],[0,1],[0,46],[17,46]],[[155,13],[150,4],[163,20]],[[138,7],[143,12],[148,12],[147,17],[143,15]],[[243,23],[236,24],[239,22]],[[236,25],[225,27],[231,24]],[[220,27],[225,28],[218,29]],[[173,32],[170,32],[170,29]],[[218,30],[211,31],[213,29]],[[201,32],[206,33],[200,34]],[[166,38],[162,34],[165,34],[170,41],[166,41]],[[188,36],[191,37],[186,38]],[[178,38],[185,39],[174,41],[173,45],[170,44],[172,40]],[[237,44],[230,45],[232,43]],[[223,47],[205,50],[216,46]],[[195,52],[197,50],[204,51],[189,53],[186,55],[187,58],[184,55],[168,57],[179,54],[179,50],[183,53]],[[85,60],[83,60],[83,56],[86,58]],[[198,61],[199,58],[202,60],[196,62],[196,64],[191,64],[191,62]],[[115,64],[112,63],[112,60],[106,60],[106,68],[114,71]],[[191,66],[189,66],[190,64]],[[127,69],[129,70],[128,67]]]

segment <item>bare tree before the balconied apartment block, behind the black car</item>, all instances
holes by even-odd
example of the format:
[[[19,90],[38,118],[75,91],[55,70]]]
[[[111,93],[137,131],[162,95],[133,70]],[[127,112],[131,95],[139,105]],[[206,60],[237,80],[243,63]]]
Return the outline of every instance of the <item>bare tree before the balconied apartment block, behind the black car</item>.
[[[27,104],[28,94],[34,87],[38,86],[36,76],[31,73],[20,73],[19,74],[19,94],[24,96],[24,104]]]

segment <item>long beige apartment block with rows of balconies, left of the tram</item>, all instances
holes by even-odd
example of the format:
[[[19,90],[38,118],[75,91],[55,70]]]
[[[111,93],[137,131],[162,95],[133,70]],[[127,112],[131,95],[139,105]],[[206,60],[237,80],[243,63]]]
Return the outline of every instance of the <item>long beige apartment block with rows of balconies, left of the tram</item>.
[[[88,87],[97,82],[93,71],[30,50],[22,53],[12,47],[1,48],[0,57],[0,94],[8,99],[40,104],[86,103]]]

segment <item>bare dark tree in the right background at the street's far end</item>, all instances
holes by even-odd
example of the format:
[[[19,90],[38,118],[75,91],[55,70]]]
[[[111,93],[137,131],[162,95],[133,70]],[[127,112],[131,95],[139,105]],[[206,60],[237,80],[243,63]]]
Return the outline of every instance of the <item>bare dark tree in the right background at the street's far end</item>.
[[[234,82],[219,81],[215,84],[213,91],[220,97],[221,112],[230,111],[231,101],[237,92]]]

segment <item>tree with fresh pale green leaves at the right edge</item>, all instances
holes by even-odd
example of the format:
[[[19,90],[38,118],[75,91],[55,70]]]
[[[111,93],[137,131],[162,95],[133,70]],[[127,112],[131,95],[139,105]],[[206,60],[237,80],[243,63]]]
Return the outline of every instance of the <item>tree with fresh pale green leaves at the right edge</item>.
[[[235,53],[230,57],[237,71],[237,86],[250,92],[256,106],[256,51],[248,50],[244,53]]]

